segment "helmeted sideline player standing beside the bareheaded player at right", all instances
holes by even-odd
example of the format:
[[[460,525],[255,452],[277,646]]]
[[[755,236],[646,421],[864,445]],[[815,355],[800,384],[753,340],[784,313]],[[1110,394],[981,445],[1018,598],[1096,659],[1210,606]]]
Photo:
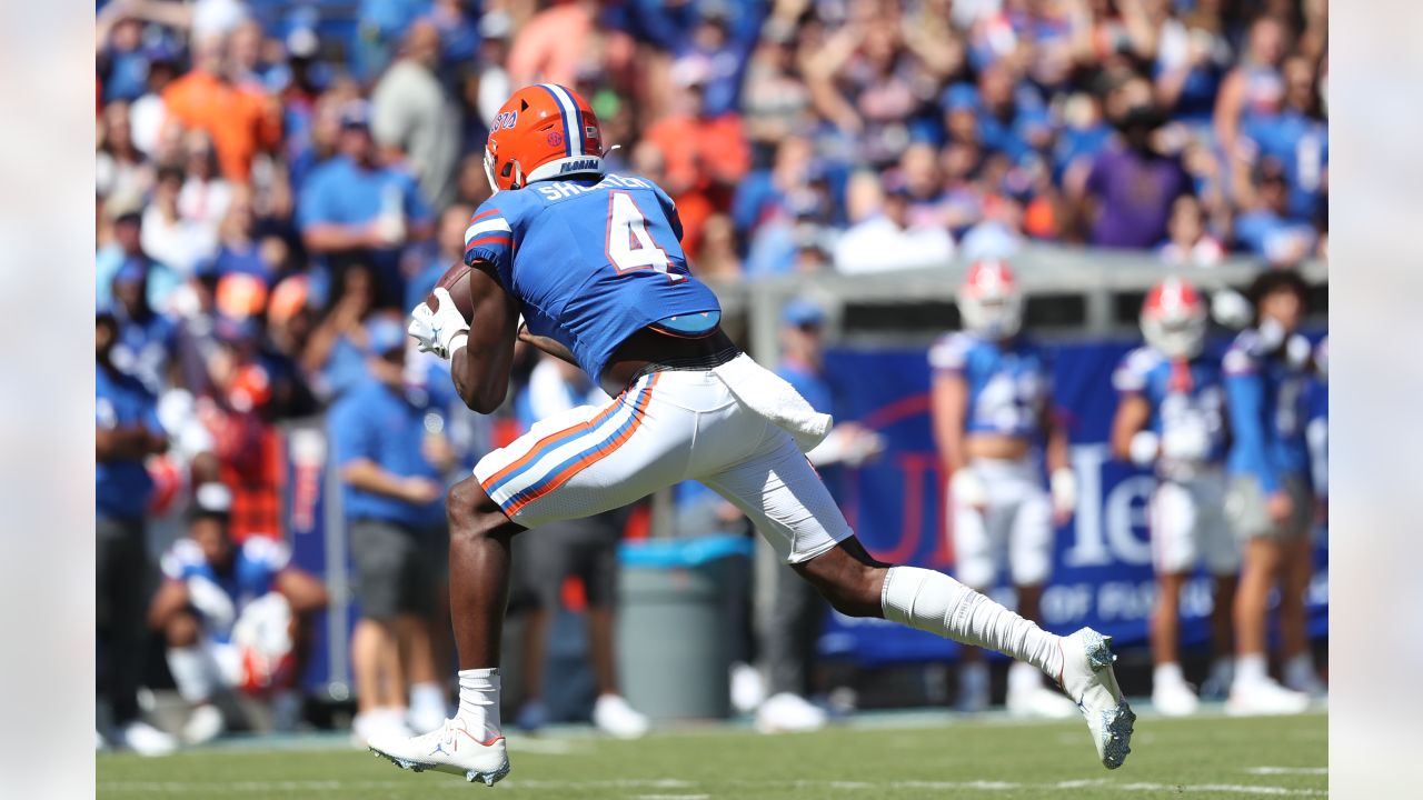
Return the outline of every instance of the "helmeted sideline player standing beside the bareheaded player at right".
[[[1120,396],[1111,423],[1111,454],[1154,468],[1151,565],[1157,575],[1151,611],[1151,705],[1165,716],[1200,705],[1181,673],[1181,588],[1205,561],[1215,579],[1211,682],[1228,688],[1231,606],[1239,548],[1222,514],[1225,478],[1225,390],[1220,362],[1201,354],[1205,302],[1194,286],[1171,278],[1141,306],[1147,346],[1127,353],[1111,376]]]

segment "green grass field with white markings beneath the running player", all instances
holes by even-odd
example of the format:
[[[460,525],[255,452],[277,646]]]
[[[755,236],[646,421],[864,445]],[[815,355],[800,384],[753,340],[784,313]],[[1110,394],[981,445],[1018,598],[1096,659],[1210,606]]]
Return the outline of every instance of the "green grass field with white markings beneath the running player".
[[[242,742],[147,760],[98,756],[98,797],[484,797],[751,800],[760,797],[1321,797],[1328,716],[1137,722],[1126,766],[1096,763],[1079,722],[865,715],[821,733],[761,736],[716,726],[615,742],[573,730],[511,739],[514,772],[492,790],[407,773],[336,740]]]

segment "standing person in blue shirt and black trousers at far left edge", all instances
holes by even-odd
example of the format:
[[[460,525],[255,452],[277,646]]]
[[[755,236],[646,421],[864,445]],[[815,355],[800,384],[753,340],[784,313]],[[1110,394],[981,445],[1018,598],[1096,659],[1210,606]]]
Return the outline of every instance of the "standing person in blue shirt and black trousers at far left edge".
[[[98,675],[112,710],[108,740],[142,756],[161,756],[172,752],[175,742],[138,719],[138,682],[148,652],[145,518],[154,487],[144,460],[166,450],[168,437],[154,394],[114,364],[117,342],[118,320],[101,307],[94,317]]]

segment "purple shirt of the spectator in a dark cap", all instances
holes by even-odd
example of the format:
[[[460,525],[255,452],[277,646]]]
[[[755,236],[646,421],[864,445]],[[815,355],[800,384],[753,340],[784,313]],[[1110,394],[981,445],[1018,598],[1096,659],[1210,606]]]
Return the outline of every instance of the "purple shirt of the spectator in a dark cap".
[[[1190,191],[1191,179],[1177,158],[1109,148],[1087,175],[1087,194],[1097,201],[1090,242],[1101,248],[1154,246],[1165,238],[1171,204]]]

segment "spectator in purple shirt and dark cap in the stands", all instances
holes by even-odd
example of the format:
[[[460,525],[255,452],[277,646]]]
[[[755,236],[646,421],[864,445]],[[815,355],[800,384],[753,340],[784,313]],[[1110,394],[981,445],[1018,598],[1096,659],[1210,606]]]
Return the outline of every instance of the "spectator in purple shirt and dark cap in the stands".
[[[1163,115],[1146,80],[1127,78],[1109,95],[1107,110],[1121,140],[1093,161],[1074,191],[1084,204],[1087,241],[1147,249],[1165,238],[1171,204],[1191,192],[1191,182],[1180,158],[1167,151]]]

